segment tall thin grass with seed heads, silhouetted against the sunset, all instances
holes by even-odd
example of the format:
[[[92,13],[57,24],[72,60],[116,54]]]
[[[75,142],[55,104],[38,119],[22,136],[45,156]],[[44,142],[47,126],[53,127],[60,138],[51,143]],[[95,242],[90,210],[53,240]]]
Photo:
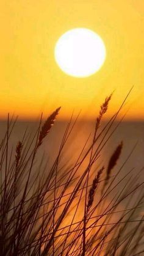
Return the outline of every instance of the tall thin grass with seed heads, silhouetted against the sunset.
[[[10,148],[16,120],[10,120],[8,115],[7,131],[0,144],[1,256],[144,254],[140,215],[144,182],[138,181],[142,170],[135,173],[130,169],[123,174],[135,145],[126,159],[123,156],[123,164],[118,168],[123,142],[115,145],[106,166],[98,164],[103,148],[107,148],[117,130],[115,119],[126,101],[100,129],[111,97],[101,105],[93,136],[85,140],[71,165],[62,165],[62,159],[65,161],[67,142],[76,120],[71,118],[68,122],[59,152],[49,167],[43,165],[39,154],[60,108],[45,122],[41,115],[34,136],[30,138],[26,131],[16,148]],[[39,161],[39,167],[35,161]]]

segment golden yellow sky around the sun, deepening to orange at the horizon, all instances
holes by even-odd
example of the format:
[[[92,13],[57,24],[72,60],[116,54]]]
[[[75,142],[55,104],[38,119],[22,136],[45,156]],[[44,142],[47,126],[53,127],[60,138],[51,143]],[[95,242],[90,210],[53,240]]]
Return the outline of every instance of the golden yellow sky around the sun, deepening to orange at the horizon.
[[[7,0],[0,9],[0,117],[35,119],[62,106],[62,118],[73,109],[90,118],[115,90],[112,114],[134,85],[127,118],[144,118],[143,0]],[[88,78],[66,75],[54,60],[60,35],[75,27],[92,29],[106,45],[103,67]]]

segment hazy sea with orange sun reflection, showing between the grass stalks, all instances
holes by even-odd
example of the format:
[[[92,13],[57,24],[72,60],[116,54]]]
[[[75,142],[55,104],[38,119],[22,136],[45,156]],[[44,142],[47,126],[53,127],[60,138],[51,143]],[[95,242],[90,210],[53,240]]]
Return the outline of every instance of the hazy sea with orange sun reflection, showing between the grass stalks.
[[[12,156],[15,158],[15,148],[18,141],[23,141],[26,147],[29,147],[29,145],[33,141],[33,145],[35,146],[35,139],[33,139],[33,137],[37,133],[38,125],[38,122],[16,122],[15,126],[13,127],[12,133],[12,125],[10,125],[9,134],[11,134],[9,139],[9,159],[11,152]],[[54,123],[51,131],[44,139],[40,148],[38,148],[37,155],[35,157],[34,168],[35,166],[38,167],[38,170],[41,172],[41,170],[45,167],[43,161],[41,162],[41,158],[45,159],[45,163],[46,161],[48,161],[46,166],[46,172],[51,168],[57,154],[59,153],[59,148],[63,136],[65,135],[65,131],[67,130],[67,127],[68,121],[56,121],[56,123]],[[117,181],[115,181],[116,183],[112,185],[112,188],[114,187],[114,189],[107,196],[103,206],[106,208],[107,205],[109,205],[110,202],[112,202],[112,200],[116,198],[115,196],[117,196],[118,193],[118,195],[123,196],[123,193],[121,194],[121,192],[123,192],[123,189],[125,189],[126,194],[129,194],[129,196],[126,197],[126,200],[124,199],[121,201],[120,206],[118,205],[117,210],[120,210],[121,213],[127,208],[135,207],[135,205],[139,201],[138,199],[140,199],[140,195],[144,194],[143,185],[140,186],[136,192],[131,192],[133,191],[135,186],[139,186],[140,183],[143,183],[144,181],[144,122],[115,122],[112,126],[110,126],[110,129],[107,130],[106,127],[109,127],[107,126],[107,122],[103,122],[98,129],[98,133],[96,133],[96,136],[99,136],[99,134],[100,136],[98,141],[96,141],[93,152],[95,153],[95,150],[98,150],[98,148],[101,148],[101,150],[99,152],[98,158],[95,161],[95,167],[92,170],[92,177],[90,177],[90,182],[92,182],[93,178],[96,176],[99,168],[104,166],[105,169],[107,169],[110,156],[112,156],[115,148],[117,148],[121,141],[123,141],[123,148],[120,158],[118,159],[117,166],[115,166],[115,168],[112,170],[110,178],[115,177],[115,175],[117,175],[119,171],[120,174],[117,176]],[[104,130],[104,128],[106,128],[106,130]],[[7,122],[1,121],[0,140],[2,140],[2,138],[4,137],[6,130]],[[68,134],[70,136],[68,136],[68,140],[62,150],[59,169],[62,170],[64,168],[65,170],[67,170],[65,166],[74,166],[74,163],[76,163],[77,159],[79,159],[79,155],[81,154],[81,152],[82,155],[87,152],[88,147],[90,147],[90,145],[92,144],[94,131],[94,121],[90,122],[87,120],[83,120],[81,122],[77,122],[74,126],[73,122],[71,123],[68,130]],[[88,155],[85,163],[81,166],[81,169],[77,174],[79,175],[79,177],[84,172],[85,167],[87,167],[89,159],[90,156]],[[117,183],[118,185],[115,187],[115,184]],[[126,185],[129,185],[128,190]],[[98,198],[100,196],[101,192],[99,194],[96,194],[96,202],[98,202]],[[74,199],[75,206],[76,202],[77,199]],[[99,209],[101,210],[101,207]],[[98,210],[97,214],[100,213],[100,210]],[[137,218],[140,219],[144,214],[143,207],[140,207],[137,211]],[[76,216],[76,220],[79,220],[79,218],[81,219],[82,213],[82,207],[79,207],[79,212],[78,216]],[[111,221],[116,221],[117,218],[119,218],[118,214],[113,214]],[[68,215],[68,223],[70,222],[71,218],[73,218],[73,214]],[[134,217],[132,216],[132,218]],[[131,227],[131,224],[129,224],[129,228]]]

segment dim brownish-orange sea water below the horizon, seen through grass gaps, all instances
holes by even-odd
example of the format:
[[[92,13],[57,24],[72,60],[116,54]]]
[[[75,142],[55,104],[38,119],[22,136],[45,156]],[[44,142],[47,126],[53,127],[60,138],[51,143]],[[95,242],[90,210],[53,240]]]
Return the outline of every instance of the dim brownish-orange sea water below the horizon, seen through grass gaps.
[[[68,122],[56,122],[54,126],[52,126],[52,129],[48,136],[45,138],[43,144],[41,145],[41,148],[38,149],[37,153],[37,162],[40,162],[41,156],[43,156],[43,153],[45,153],[45,159],[48,159],[48,167],[52,165],[54,162],[54,159],[57,156],[57,153],[59,152],[60,143],[62,141],[63,134],[65,133],[65,129],[67,128]],[[104,126],[106,125],[106,122],[104,122],[101,127],[99,128],[98,134],[103,130]],[[132,148],[134,148],[134,152],[132,152],[132,155],[129,157],[128,161],[126,161],[126,164],[124,164],[123,169],[121,170],[120,176],[118,177],[119,180],[121,180],[121,177],[128,174],[128,172],[132,169],[132,175],[135,177],[144,166],[144,122],[123,122],[118,125],[118,123],[115,122],[112,126],[112,129],[107,133],[107,136],[105,137],[104,141],[107,141],[105,147],[100,152],[100,156],[98,160],[95,163],[95,166],[97,169],[99,166],[105,166],[107,167],[107,163],[109,161],[110,156],[112,155],[113,151],[117,147],[118,144],[120,144],[121,141],[123,141],[123,150],[120,156],[120,159],[117,163],[117,168],[113,170],[112,175],[114,176],[117,171],[120,169],[121,166],[123,166],[124,161],[128,158],[129,154],[132,151]],[[0,123],[0,139],[5,134],[7,128],[6,122]],[[30,141],[32,140],[32,134],[35,134],[38,128],[38,123],[34,122],[17,122],[15,127],[13,128],[12,134],[10,136],[9,141],[9,152],[11,148],[13,147],[13,156],[15,156],[15,148],[18,141],[21,141],[24,136],[24,132],[27,129],[26,137],[24,141],[27,141],[27,145],[29,145]],[[65,145],[65,148],[62,152],[62,165],[67,164],[68,166],[70,164],[74,164],[76,162],[77,157],[79,156],[79,153],[81,153],[82,148],[84,147],[85,142],[87,141],[88,136],[91,137],[88,141],[87,146],[85,147],[84,152],[87,151],[88,145],[91,144],[93,139],[93,132],[95,130],[95,123],[94,122],[87,122],[86,120],[83,122],[77,122],[74,126],[73,130],[71,131],[70,137],[67,141],[67,144]],[[112,134],[112,136],[110,136]],[[99,140],[96,142],[96,146],[94,150],[99,146],[99,143],[101,143],[101,139],[103,139],[104,133],[102,136],[100,136]],[[101,144],[103,145],[103,143]],[[88,158],[89,159],[89,158]],[[82,169],[84,170],[84,167],[87,166],[88,160],[85,162],[84,166],[82,166],[79,175],[81,175]],[[97,173],[97,169],[93,169],[93,177]],[[109,202],[111,202],[111,199],[113,198],[113,195],[117,194],[119,188],[123,189],[126,183],[128,183],[129,178],[131,174],[123,181],[122,184],[118,185],[115,191],[112,191],[109,197],[107,197],[106,201],[104,202],[104,207],[106,205],[109,205]],[[137,180],[135,179],[132,183],[132,186],[135,186],[136,183],[141,183],[143,179],[143,172],[141,175],[138,175]],[[131,187],[129,188],[131,191]],[[124,204],[126,207],[131,207],[135,204],[135,201],[137,201],[137,197],[140,197],[140,193],[143,194],[144,188],[143,186],[140,187],[140,189],[135,194],[130,194],[128,197],[128,200],[126,202],[122,202],[120,204],[120,210],[123,210]],[[97,195],[96,195],[97,196]],[[96,200],[98,200],[98,197],[96,197]],[[76,201],[75,201],[76,202]],[[128,205],[129,203],[129,205]],[[117,208],[118,209],[118,208]],[[81,211],[82,208],[80,208],[79,216],[81,217]],[[98,212],[99,214],[99,212]],[[138,219],[141,218],[143,215],[143,208],[140,208],[138,213]],[[69,218],[70,216],[68,216]],[[77,217],[78,219],[79,217]],[[116,214],[112,217],[114,220],[118,218]],[[133,218],[133,217],[132,217]],[[112,220],[113,220],[112,219]],[[68,222],[69,223],[69,222]],[[131,228],[131,225],[129,225],[129,228]]]

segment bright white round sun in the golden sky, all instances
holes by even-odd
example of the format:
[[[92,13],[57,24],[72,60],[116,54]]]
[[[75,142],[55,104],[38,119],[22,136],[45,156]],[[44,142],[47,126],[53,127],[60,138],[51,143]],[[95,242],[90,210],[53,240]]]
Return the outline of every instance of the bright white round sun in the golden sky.
[[[106,48],[98,34],[90,29],[76,28],[59,38],[54,54],[65,73],[82,78],[101,68],[106,59]]]

